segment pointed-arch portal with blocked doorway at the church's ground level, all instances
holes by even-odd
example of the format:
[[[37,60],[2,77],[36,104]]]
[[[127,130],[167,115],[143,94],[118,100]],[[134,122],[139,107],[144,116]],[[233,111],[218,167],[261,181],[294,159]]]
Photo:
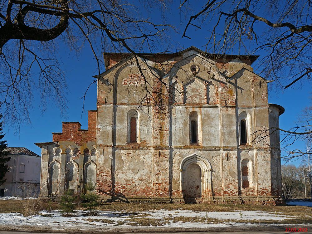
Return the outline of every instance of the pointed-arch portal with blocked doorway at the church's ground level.
[[[180,164],[180,189],[185,201],[188,198],[207,197],[212,189],[210,162],[195,153],[184,158]]]

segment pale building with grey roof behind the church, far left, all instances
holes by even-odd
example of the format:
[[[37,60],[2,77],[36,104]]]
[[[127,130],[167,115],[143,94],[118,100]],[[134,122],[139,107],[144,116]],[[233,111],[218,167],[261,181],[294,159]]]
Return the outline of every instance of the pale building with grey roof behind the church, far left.
[[[0,185],[0,197],[18,196],[20,188],[32,188],[32,196],[39,193],[41,157],[24,147],[7,147],[9,171],[5,174],[6,182]]]

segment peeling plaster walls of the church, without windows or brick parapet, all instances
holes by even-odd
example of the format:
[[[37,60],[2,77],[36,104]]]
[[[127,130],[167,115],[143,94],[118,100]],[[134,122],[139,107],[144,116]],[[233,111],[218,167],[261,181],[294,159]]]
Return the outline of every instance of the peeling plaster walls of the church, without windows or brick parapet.
[[[148,65],[139,60],[143,76],[132,57],[111,62],[115,66],[109,65],[98,81],[96,143],[78,146],[66,141],[42,147],[41,176],[48,178],[50,163],[59,162],[60,193],[65,184],[64,160],[78,163],[78,178],[84,173],[83,153],[76,156],[79,160],[63,157],[70,145],[80,152],[96,149],[96,156],[90,160],[96,165],[96,189],[103,199],[167,197],[169,201],[183,201],[187,194],[183,183],[189,184],[188,167],[201,168],[202,177],[197,179],[202,181],[202,197],[198,202],[212,202],[218,197],[224,202],[225,197],[238,196],[259,202],[262,196],[270,203],[272,195],[281,195],[279,145],[271,150],[270,139],[252,141],[253,132],[269,127],[271,107],[266,80],[254,74],[251,66],[239,60],[215,62],[196,51],[170,59],[166,69],[153,60]],[[191,66],[196,66],[196,72]],[[160,77],[173,88],[167,90]],[[145,82],[160,95],[151,87],[146,92]],[[278,116],[279,110],[271,109]],[[193,111],[198,116],[198,144],[190,142],[189,116]],[[127,143],[130,112],[137,119],[134,143]],[[246,118],[246,144],[240,143],[241,118]],[[276,121],[278,124],[278,118]],[[56,152],[57,147],[61,153]],[[242,188],[244,159],[250,162],[248,188]],[[44,179],[41,182],[42,194],[48,191],[47,183]]]

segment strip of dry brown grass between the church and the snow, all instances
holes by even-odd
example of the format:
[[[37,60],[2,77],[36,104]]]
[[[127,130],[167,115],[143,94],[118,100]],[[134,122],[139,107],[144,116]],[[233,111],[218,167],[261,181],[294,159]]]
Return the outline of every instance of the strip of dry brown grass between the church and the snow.
[[[40,204],[40,209],[59,209],[60,206],[56,202],[42,202]],[[77,209],[83,209],[81,206]],[[216,218],[203,218],[203,217],[164,217],[163,219],[154,219],[148,217],[149,215],[140,214],[143,211],[149,210],[192,210],[192,211],[202,211],[202,212],[231,212],[231,211],[264,211],[264,212],[276,212],[276,216],[288,215],[293,216],[290,219],[284,220],[244,220],[242,217],[239,220],[231,220],[231,222],[245,222],[245,223],[280,223],[280,224],[300,224],[300,223],[312,223],[312,207],[304,206],[264,206],[264,205],[208,205],[208,204],[171,204],[171,203],[123,203],[123,202],[112,202],[105,203],[97,207],[98,210],[105,211],[120,211],[122,214],[127,214],[127,221],[133,222],[133,225],[139,226],[163,226],[168,222],[197,222],[197,223],[219,223],[227,222],[227,220],[220,220]],[[9,212],[23,212],[22,201],[19,200],[0,200],[0,213]],[[93,219],[93,218],[92,218]],[[94,217],[96,220],[96,217]],[[94,220],[94,221],[95,221]],[[230,221],[230,220],[229,220]],[[101,220],[101,222],[110,223],[109,219]],[[122,224],[121,222],[119,225]]]

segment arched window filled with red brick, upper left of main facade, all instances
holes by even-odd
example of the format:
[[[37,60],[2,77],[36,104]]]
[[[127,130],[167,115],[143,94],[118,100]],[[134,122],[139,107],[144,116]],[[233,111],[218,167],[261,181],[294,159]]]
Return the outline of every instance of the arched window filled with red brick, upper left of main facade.
[[[127,143],[139,143],[139,112],[129,110],[127,114]]]

